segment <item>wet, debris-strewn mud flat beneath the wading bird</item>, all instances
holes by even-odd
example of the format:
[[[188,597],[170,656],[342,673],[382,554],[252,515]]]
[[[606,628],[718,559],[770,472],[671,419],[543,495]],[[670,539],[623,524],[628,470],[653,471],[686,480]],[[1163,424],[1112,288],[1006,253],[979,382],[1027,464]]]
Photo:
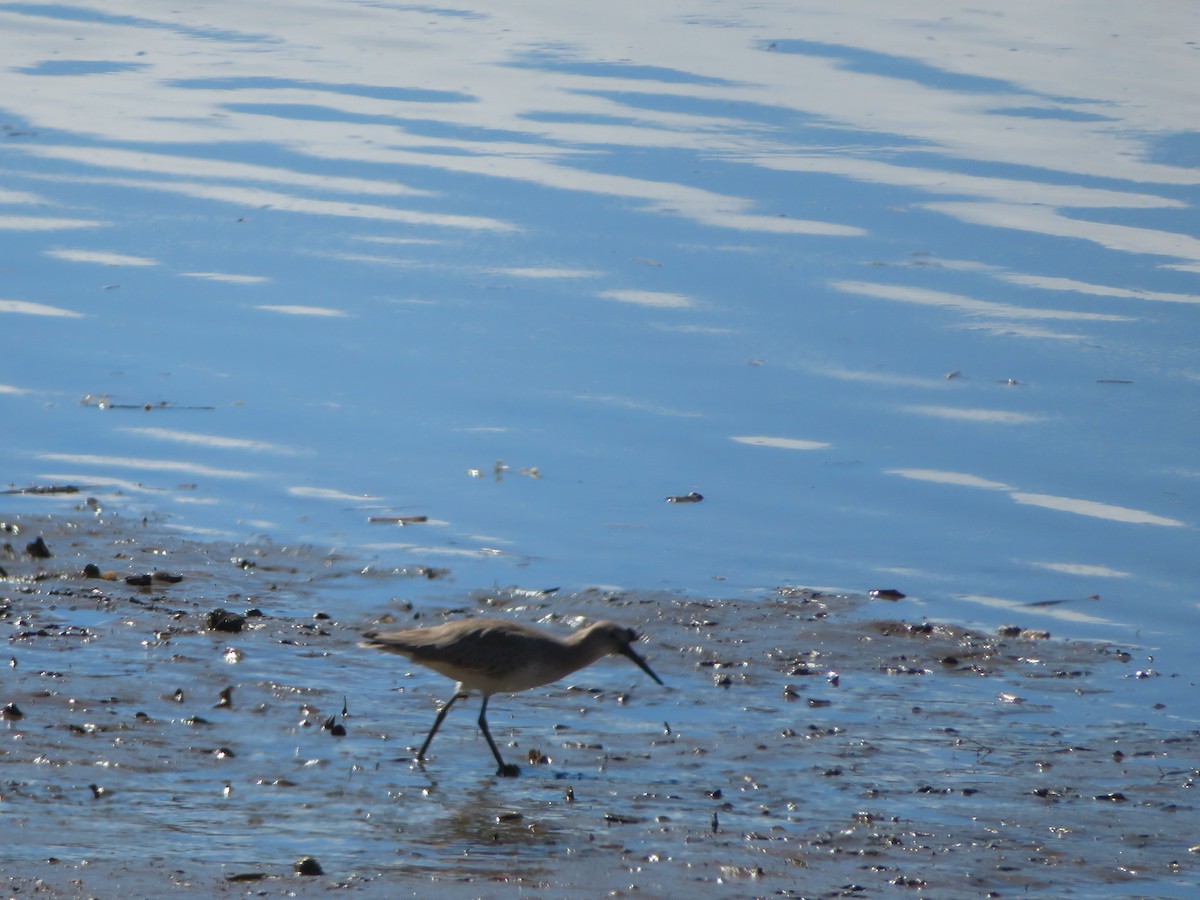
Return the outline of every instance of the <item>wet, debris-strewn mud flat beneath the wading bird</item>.
[[[797,586],[481,590],[85,506],[0,520],[10,895],[1182,898],[1200,880],[1200,733],[1152,701],[1164,673],[1134,643]],[[452,685],[356,642],[474,613],[631,625],[667,686],[618,660],[497,696],[516,779],[473,698],[416,766]]]

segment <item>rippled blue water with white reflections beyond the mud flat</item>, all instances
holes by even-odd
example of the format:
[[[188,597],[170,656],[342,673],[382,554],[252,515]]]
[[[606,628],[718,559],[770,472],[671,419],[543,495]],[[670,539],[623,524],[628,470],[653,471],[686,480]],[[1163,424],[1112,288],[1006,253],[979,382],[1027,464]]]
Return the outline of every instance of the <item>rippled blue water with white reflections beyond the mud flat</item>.
[[[0,481],[80,488],[0,512],[438,575],[359,624],[898,588],[1194,728],[1196,23],[0,1]]]

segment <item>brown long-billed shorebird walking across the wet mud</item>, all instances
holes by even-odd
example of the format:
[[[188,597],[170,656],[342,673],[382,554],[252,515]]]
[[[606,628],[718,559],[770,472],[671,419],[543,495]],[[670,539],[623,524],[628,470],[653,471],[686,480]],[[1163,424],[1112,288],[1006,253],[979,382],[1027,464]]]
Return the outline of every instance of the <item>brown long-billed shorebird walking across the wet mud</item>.
[[[425,760],[430,742],[438,733],[442,720],[455,701],[472,691],[479,691],[484,696],[479,727],[484,730],[492,756],[499,763],[498,775],[517,775],[520,769],[504,762],[487,730],[487,701],[493,694],[516,694],[557,682],[610,654],[628,656],[650,678],[662,684],[662,679],[654,674],[646,660],[631,647],[637,640],[637,632],[612,622],[598,622],[568,637],[554,637],[516,622],[488,618],[461,619],[433,628],[383,634],[371,631],[364,637],[367,640],[360,647],[398,653],[458,682],[454,696],[433,720],[433,727],[416,752],[416,758]]]

